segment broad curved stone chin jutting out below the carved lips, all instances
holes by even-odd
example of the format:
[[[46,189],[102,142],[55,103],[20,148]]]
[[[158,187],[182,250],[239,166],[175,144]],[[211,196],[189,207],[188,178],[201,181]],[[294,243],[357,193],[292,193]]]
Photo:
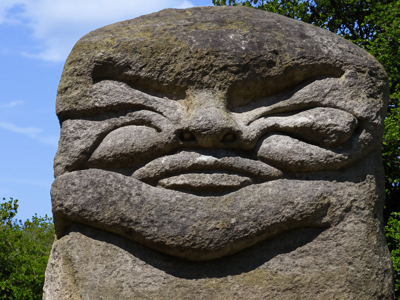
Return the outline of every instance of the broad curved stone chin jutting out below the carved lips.
[[[51,188],[56,222],[84,223],[190,260],[229,255],[293,228],[329,226],[337,218],[329,208],[342,198],[340,183],[329,181],[276,179],[197,196],[100,169],[65,173]]]

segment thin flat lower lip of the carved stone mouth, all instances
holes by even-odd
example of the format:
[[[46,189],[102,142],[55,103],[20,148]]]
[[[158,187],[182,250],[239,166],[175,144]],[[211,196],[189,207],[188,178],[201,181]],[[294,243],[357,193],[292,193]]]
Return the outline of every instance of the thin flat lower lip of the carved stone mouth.
[[[159,187],[187,190],[224,190],[252,184],[250,177],[226,173],[186,173],[160,179]]]

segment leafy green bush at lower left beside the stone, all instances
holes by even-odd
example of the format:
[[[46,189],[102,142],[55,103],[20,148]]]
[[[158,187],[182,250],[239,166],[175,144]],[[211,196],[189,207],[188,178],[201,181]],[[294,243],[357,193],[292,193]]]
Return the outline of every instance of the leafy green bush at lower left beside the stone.
[[[39,300],[54,225],[47,215],[13,221],[17,201],[10,198],[0,204],[0,299]]]

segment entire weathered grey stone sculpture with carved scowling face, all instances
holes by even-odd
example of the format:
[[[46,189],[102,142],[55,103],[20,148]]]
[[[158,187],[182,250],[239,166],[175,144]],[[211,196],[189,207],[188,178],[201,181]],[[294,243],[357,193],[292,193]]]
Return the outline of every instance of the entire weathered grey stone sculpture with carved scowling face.
[[[247,7],[88,33],[58,88],[43,299],[391,299],[387,97],[357,46]]]

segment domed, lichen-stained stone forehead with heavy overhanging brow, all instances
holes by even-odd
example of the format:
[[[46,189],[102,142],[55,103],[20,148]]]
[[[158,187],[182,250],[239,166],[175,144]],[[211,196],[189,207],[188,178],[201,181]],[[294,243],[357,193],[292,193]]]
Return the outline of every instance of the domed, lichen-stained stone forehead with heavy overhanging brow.
[[[327,30],[247,7],[165,9],[82,37],[65,63],[56,111],[93,106],[90,87],[102,79],[177,97],[188,88],[257,97],[348,70],[364,88],[384,89],[377,61]]]

